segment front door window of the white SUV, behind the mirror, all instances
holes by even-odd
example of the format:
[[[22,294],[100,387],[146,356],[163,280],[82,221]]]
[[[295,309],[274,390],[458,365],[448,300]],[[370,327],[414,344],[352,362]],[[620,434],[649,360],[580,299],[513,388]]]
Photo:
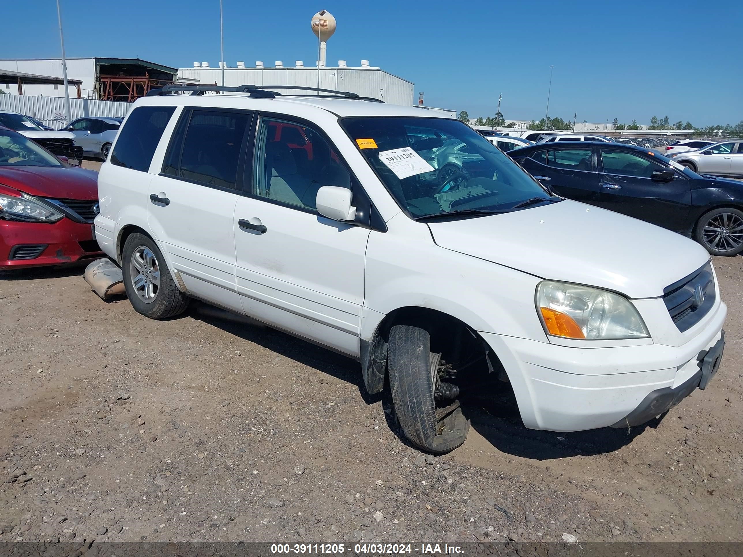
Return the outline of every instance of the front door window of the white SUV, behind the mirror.
[[[351,188],[351,174],[319,132],[262,118],[256,140],[253,195],[315,210],[322,186]]]

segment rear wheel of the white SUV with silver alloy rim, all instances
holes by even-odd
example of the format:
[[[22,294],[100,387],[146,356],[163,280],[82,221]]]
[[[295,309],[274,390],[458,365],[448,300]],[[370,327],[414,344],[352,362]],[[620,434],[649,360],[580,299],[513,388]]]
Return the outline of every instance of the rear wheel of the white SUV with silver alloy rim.
[[[150,319],[183,313],[189,299],[175,286],[163,253],[152,238],[134,233],[121,254],[124,288],[137,312]]]

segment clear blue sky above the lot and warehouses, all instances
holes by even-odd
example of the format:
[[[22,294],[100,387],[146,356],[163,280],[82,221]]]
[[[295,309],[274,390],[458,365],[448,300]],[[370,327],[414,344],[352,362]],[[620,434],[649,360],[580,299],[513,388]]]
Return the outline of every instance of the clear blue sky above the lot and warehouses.
[[[68,56],[218,65],[218,0],[60,1]],[[414,82],[429,106],[485,117],[502,93],[504,117],[539,120],[554,65],[550,117],[743,120],[743,1],[317,1],[223,0],[228,64],[312,64],[310,19],[325,9],[338,21],[328,65],[369,59]],[[59,56],[52,0],[3,13],[0,58]]]

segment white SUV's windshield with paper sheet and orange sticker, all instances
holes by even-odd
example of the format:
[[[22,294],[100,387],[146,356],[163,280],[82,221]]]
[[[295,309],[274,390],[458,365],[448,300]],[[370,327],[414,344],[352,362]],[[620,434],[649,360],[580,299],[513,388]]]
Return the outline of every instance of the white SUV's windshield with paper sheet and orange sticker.
[[[561,200],[458,120],[348,117],[341,125],[413,218],[487,215]]]

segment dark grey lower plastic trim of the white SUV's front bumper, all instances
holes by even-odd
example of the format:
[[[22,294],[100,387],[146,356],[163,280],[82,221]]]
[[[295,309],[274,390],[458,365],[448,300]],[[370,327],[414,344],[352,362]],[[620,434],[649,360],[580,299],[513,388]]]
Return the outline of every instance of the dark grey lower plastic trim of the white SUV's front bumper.
[[[696,388],[704,389],[707,387],[707,383],[714,377],[720,367],[722,360],[722,352],[725,346],[725,333],[722,332],[721,338],[716,344],[708,351],[704,351],[700,354],[699,362],[701,368],[688,380],[681,383],[675,388],[665,387],[659,388],[657,391],[652,391],[645,397],[640,405],[635,408],[632,412],[627,414],[617,423],[614,423],[611,427],[623,428],[640,426],[649,420],[652,420],[656,416],[660,416],[663,412],[670,410],[675,405],[684,400]]]

